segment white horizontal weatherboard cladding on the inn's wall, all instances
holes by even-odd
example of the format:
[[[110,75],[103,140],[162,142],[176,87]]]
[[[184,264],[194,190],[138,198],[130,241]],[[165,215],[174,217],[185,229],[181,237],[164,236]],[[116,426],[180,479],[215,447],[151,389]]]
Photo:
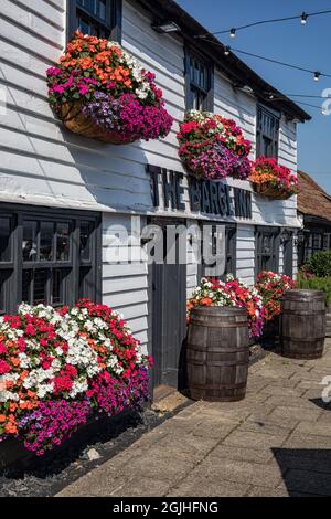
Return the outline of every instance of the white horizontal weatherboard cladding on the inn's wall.
[[[164,7],[174,2],[162,3]],[[183,173],[185,209],[167,210],[161,200],[158,214],[190,221],[213,220],[213,216],[190,210],[188,176],[178,158],[175,134],[185,110],[183,40],[180,35],[153,31],[153,17],[148,11],[142,13],[141,2],[125,0],[122,13],[122,45],[157,74],[174,125],[164,140],[113,147],[66,131],[47,103],[44,72],[58,60],[65,46],[66,1],[30,0],[25,6],[1,0],[0,86],[6,89],[8,110],[0,120],[0,200],[103,212],[104,300],[122,310],[132,331],[146,346],[149,341],[148,272],[145,265],[109,265],[106,248],[114,222],[129,229],[131,214],[154,213],[147,163]],[[239,67],[237,73],[242,73]],[[254,142],[256,99],[234,88],[224,67],[216,66],[214,96],[214,110],[235,119]],[[281,116],[279,160],[295,171],[296,126],[293,120]],[[252,159],[254,153],[255,146]],[[228,184],[252,191],[249,182],[229,179]],[[253,193],[252,220],[229,219],[238,223],[237,275],[253,282],[254,225],[298,227],[296,204],[296,197],[271,201]],[[188,267],[189,293],[196,284],[195,267],[192,263]]]

